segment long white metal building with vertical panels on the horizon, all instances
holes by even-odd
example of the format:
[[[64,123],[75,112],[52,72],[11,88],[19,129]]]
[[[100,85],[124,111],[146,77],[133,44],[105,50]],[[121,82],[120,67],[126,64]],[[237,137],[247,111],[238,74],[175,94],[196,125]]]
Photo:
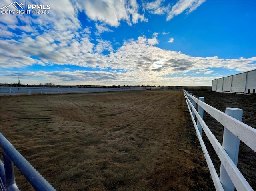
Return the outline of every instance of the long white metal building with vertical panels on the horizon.
[[[255,93],[256,70],[227,76],[212,81],[213,91]]]

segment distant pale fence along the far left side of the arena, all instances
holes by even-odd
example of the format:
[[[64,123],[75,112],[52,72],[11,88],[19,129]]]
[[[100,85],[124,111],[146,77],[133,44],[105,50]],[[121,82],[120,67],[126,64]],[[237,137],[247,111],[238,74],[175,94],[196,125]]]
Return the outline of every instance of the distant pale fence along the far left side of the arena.
[[[4,95],[35,95],[35,94],[64,94],[89,93],[108,91],[146,90],[140,87],[127,88],[49,88],[49,87],[0,87],[0,96]]]

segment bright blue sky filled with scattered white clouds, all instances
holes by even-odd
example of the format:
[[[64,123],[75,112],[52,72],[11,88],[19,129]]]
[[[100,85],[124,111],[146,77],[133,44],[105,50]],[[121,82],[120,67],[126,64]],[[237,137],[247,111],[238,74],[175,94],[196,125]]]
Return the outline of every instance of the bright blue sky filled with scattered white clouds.
[[[22,10],[11,3],[30,14],[8,14]],[[0,8],[1,83],[19,75],[36,85],[211,86],[256,69],[254,0],[1,0]]]

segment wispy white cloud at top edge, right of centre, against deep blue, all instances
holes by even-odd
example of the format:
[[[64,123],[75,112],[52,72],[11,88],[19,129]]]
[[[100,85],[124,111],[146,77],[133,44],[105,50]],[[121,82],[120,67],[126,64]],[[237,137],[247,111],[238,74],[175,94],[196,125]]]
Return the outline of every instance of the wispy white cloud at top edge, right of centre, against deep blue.
[[[205,2],[205,0],[179,0],[174,6],[172,6],[170,12],[168,12],[166,20],[171,20],[174,16],[181,14],[185,10],[187,10],[186,14],[189,14],[196,10],[203,2]]]

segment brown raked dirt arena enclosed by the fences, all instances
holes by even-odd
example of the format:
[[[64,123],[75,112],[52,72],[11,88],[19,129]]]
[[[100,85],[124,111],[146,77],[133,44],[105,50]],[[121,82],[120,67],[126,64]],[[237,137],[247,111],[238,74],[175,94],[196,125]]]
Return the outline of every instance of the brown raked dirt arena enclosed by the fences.
[[[2,134],[58,191],[215,190],[189,117],[180,92],[1,97]]]

